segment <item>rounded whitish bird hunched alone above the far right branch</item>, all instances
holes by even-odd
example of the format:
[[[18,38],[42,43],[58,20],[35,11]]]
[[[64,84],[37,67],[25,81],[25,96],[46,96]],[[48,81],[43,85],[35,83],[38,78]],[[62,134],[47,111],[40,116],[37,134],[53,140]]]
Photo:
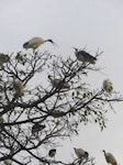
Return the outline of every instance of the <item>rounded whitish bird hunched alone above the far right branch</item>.
[[[104,79],[102,86],[107,92],[111,92],[113,90],[113,84],[110,79]]]

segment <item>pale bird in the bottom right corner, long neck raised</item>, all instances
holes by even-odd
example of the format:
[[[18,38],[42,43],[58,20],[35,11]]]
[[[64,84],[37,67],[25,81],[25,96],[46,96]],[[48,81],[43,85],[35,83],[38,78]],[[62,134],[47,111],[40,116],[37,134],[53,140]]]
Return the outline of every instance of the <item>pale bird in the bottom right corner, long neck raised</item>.
[[[116,160],[113,154],[105,153],[105,151],[102,151],[104,153],[104,157],[108,164],[118,165]]]

